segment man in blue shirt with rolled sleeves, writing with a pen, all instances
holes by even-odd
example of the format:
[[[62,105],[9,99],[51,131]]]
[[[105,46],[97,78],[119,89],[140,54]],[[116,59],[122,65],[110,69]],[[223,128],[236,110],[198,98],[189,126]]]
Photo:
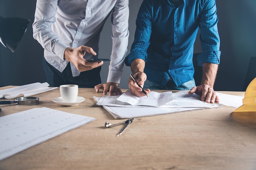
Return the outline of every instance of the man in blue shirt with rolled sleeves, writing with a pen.
[[[207,103],[219,102],[213,90],[220,63],[220,38],[215,0],[144,0],[136,20],[135,39],[126,65],[144,87],[190,90]],[[200,29],[202,82],[193,79],[193,47]],[[129,88],[137,96],[142,89],[130,78]]]

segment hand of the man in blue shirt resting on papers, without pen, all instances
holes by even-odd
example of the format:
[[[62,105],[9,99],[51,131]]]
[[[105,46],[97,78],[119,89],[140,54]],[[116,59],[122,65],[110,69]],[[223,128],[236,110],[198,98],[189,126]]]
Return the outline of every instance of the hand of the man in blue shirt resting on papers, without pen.
[[[191,88],[189,94],[192,95],[193,93],[200,95],[201,100],[207,103],[219,103],[219,97],[216,95],[215,91],[212,87],[208,86],[207,84],[196,86]]]

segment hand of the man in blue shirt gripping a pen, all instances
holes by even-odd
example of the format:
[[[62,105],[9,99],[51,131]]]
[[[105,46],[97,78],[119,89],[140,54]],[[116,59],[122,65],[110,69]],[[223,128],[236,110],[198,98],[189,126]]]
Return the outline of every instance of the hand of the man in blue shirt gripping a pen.
[[[137,79],[138,84],[143,88],[144,82],[147,79],[147,75],[144,72],[138,72],[133,74],[134,78]],[[133,81],[132,77],[129,78],[128,87],[131,89],[132,93],[136,96],[144,96],[142,89]],[[144,90],[146,94],[150,93],[149,89]]]

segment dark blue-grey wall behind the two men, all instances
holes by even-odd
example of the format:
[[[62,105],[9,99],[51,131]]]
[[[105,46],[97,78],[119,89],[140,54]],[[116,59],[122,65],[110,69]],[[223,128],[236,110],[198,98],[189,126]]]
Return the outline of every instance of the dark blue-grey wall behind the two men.
[[[134,39],[135,20],[142,0],[130,0],[129,46]],[[215,90],[242,91],[250,57],[256,57],[256,1],[255,0],[216,0],[219,17],[221,62]],[[43,49],[32,37],[31,24],[34,21],[36,0],[0,0],[0,15],[22,17],[31,20],[18,49],[11,53],[0,45],[0,86],[24,85],[32,82],[45,82],[42,68]],[[111,26],[108,20],[101,33],[99,56],[111,54]],[[201,52],[198,39],[195,53]],[[101,77],[106,82],[108,62],[105,62]],[[128,88],[130,67],[124,66],[121,88]]]

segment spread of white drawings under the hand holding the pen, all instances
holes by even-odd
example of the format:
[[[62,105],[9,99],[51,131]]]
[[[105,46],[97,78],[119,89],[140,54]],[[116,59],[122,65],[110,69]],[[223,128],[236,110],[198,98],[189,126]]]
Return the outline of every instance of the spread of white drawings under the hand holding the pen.
[[[151,93],[153,94],[152,96],[150,95]],[[155,97],[156,95],[158,97]],[[163,97],[168,95],[171,95],[172,100],[170,100],[170,97]],[[186,110],[218,108],[222,106],[222,104],[202,102],[198,99],[198,95],[189,95],[188,91],[168,93],[168,95],[151,91],[148,97],[135,97],[132,95],[130,90],[128,90],[121,96],[106,95],[103,97],[94,97],[94,99],[97,101],[98,105],[103,106],[103,108],[105,108],[116,119],[162,115]],[[159,103],[160,100],[165,102],[165,104],[154,107],[154,105],[157,105],[156,103]],[[136,103],[136,101],[139,105],[131,104]],[[141,102],[144,104],[140,104]]]

